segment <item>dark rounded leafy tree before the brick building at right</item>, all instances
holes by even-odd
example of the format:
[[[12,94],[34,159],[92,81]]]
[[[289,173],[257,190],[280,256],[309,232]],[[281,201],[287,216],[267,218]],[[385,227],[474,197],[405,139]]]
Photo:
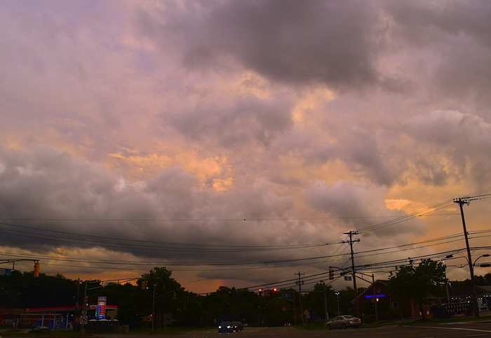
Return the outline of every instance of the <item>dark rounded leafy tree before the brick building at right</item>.
[[[401,300],[415,301],[424,319],[423,304],[428,301],[429,295],[444,293],[445,265],[431,259],[422,259],[418,266],[413,263],[410,261],[409,265],[396,267],[396,272],[389,277],[389,287]]]

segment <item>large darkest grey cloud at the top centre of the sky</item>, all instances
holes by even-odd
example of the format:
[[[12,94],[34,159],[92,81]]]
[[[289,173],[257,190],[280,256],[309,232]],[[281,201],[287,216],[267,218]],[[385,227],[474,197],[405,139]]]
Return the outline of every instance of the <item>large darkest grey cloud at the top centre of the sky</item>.
[[[169,48],[169,38],[182,46],[182,60],[191,69],[227,67],[231,57],[271,81],[320,82],[336,89],[379,81],[377,15],[369,3],[190,1],[184,6],[185,13],[167,8],[165,19],[142,15],[141,25],[162,41],[161,48]]]

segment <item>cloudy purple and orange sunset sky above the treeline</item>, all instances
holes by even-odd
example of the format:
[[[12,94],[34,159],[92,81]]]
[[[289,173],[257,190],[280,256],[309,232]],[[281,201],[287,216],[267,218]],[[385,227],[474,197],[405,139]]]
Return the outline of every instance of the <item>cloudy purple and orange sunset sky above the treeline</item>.
[[[325,273],[351,266],[354,231],[368,275],[452,254],[469,278],[453,200],[471,197],[473,259],[491,253],[490,17],[487,0],[0,0],[0,262],[340,289]]]

